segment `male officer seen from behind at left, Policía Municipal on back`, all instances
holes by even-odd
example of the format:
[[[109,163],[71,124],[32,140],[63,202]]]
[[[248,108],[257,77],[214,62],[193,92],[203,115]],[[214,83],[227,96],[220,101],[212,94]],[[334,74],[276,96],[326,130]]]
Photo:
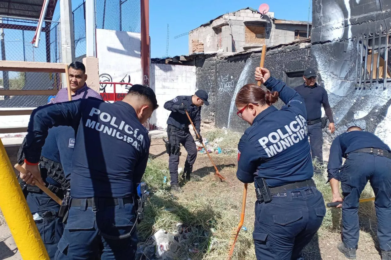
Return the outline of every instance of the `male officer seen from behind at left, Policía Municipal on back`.
[[[28,184],[43,180],[38,161],[48,128],[68,125],[76,134],[71,199],[55,259],[133,259],[135,194],[147,165],[150,141],[143,123],[158,107],[152,89],[133,85],[122,101],[95,98],[35,109],[23,146]]]

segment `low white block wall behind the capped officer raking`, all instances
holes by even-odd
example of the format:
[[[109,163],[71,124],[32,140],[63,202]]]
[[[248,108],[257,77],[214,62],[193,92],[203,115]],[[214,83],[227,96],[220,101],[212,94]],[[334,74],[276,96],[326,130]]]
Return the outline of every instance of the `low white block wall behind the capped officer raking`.
[[[170,111],[163,105],[176,96],[191,96],[195,93],[197,77],[195,66],[151,64],[151,88],[158,100],[158,109],[152,115],[152,122],[159,129],[167,129]]]

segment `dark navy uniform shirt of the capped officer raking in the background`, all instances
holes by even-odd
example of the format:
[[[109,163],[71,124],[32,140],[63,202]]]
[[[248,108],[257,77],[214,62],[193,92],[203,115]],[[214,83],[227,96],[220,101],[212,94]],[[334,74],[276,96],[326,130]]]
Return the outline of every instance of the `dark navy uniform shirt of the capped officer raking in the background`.
[[[193,104],[192,96],[177,96],[173,100],[169,100],[164,104],[164,108],[172,111],[169,119],[167,119],[167,125],[175,126],[181,130],[188,128],[190,121],[187,118],[185,111],[178,110],[181,104],[187,105],[187,112],[192,119],[195,129],[199,134],[201,125],[201,107],[197,107]]]

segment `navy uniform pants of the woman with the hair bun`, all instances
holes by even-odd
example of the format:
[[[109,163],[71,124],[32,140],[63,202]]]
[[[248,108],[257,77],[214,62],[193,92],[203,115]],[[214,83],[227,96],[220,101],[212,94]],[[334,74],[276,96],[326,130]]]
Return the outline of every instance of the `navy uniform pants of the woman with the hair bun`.
[[[257,260],[304,260],[301,250],[310,242],[326,214],[315,187],[287,191],[269,203],[255,202],[253,239]]]

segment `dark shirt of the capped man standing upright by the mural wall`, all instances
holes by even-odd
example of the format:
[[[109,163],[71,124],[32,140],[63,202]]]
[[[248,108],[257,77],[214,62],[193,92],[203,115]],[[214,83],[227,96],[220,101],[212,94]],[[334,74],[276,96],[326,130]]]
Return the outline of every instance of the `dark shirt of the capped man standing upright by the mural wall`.
[[[324,87],[319,86],[317,83],[315,83],[313,87],[310,87],[304,83],[303,85],[295,87],[295,90],[304,98],[308,121],[321,118],[321,105],[323,105],[328,121],[334,123],[333,113],[330,104],[328,103],[327,91]]]

